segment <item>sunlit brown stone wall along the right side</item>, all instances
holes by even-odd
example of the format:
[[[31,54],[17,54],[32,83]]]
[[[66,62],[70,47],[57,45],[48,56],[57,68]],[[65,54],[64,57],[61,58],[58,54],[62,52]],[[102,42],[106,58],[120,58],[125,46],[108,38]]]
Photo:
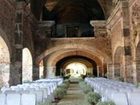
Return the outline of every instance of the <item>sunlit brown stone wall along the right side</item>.
[[[136,60],[138,58],[136,55],[139,55],[136,49],[138,49],[137,45],[140,40],[139,4],[139,0],[119,1],[107,21],[108,34],[111,36],[112,60],[115,62],[116,49],[119,46],[122,47],[124,54],[120,62],[124,72],[124,80],[135,83],[138,79],[138,71],[136,69],[139,67],[139,61]],[[115,64],[113,66],[115,67]]]

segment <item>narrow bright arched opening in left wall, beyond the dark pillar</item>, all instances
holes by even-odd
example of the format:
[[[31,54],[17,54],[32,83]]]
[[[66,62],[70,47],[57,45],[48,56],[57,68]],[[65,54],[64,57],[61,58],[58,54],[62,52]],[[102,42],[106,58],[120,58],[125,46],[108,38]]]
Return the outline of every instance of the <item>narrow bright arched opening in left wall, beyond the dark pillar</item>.
[[[28,48],[22,50],[22,82],[32,81],[33,61]]]

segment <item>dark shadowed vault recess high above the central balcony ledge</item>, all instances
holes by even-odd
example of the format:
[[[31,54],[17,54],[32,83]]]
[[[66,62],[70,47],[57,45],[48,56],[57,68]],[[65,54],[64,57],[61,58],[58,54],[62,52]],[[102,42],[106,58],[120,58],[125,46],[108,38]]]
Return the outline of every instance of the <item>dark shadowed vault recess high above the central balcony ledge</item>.
[[[55,20],[57,23],[89,23],[90,20],[104,20],[103,10],[97,0],[47,1],[43,14],[44,19]],[[47,16],[49,17],[46,18]]]

